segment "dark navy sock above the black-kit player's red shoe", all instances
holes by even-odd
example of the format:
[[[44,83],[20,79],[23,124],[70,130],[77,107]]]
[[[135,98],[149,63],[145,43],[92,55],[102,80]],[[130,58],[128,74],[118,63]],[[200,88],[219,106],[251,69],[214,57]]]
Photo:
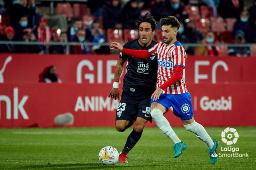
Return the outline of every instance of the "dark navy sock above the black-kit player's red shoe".
[[[133,131],[130,133],[130,135],[126,140],[125,147],[123,148],[122,153],[128,154],[128,152],[133,148],[133,146],[136,145],[138,140],[140,140],[141,135],[142,135],[142,131],[137,132],[133,129]]]

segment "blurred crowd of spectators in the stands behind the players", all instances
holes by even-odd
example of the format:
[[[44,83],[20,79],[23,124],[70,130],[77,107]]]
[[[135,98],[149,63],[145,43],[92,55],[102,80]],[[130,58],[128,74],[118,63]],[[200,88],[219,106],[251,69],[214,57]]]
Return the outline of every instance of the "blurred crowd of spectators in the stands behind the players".
[[[160,19],[174,15],[180,20],[177,39],[202,43],[185,47],[188,54],[220,56],[224,53],[249,56],[249,47],[226,47],[219,43],[256,42],[256,0],[88,0],[84,3],[55,2],[54,15],[46,2],[0,0],[0,40],[45,42],[44,45],[0,44],[1,53],[107,54],[103,42],[127,42],[138,37],[136,20],[150,12],[157,21],[154,40],[161,41]],[[61,42],[50,46],[47,42]],[[88,45],[95,42],[96,45]],[[216,45],[213,45],[216,44]]]

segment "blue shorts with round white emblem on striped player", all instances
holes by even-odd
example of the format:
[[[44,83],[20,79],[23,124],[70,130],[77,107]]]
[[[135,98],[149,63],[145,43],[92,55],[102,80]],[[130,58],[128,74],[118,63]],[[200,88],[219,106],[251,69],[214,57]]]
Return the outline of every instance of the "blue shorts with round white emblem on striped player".
[[[151,103],[157,102],[167,109],[171,106],[173,107],[173,113],[175,116],[180,117],[183,120],[189,120],[193,117],[193,106],[191,102],[191,95],[189,92],[182,94],[161,94],[158,100],[153,101],[151,99]]]

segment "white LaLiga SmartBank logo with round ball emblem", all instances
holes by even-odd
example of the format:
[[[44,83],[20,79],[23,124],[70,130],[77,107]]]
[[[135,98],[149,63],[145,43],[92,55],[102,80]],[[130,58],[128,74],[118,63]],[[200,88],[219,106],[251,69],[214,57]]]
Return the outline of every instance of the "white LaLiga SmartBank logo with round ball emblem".
[[[221,132],[221,141],[228,145],[228,147],[220,148],[221,152],[219,153],[220,157],[249,157],[248,153],[239,153],[238,147],[232,147],[229,145],[234,145],[237,143],[239,134],[235,128],[226,128]]]

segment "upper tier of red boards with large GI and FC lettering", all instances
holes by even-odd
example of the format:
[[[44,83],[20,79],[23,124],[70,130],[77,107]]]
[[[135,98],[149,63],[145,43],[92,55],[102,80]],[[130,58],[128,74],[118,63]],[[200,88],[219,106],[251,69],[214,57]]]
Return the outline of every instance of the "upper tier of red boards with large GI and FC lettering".
[[[63,83],[111,84],[117,60],[118,55],[0,54],[0,82],[3,82],[2,76],[4,83],[36,83],[40,73],[54,65]],[[256,57],[189,56],[186,82],[256,82],[255,63]]]

